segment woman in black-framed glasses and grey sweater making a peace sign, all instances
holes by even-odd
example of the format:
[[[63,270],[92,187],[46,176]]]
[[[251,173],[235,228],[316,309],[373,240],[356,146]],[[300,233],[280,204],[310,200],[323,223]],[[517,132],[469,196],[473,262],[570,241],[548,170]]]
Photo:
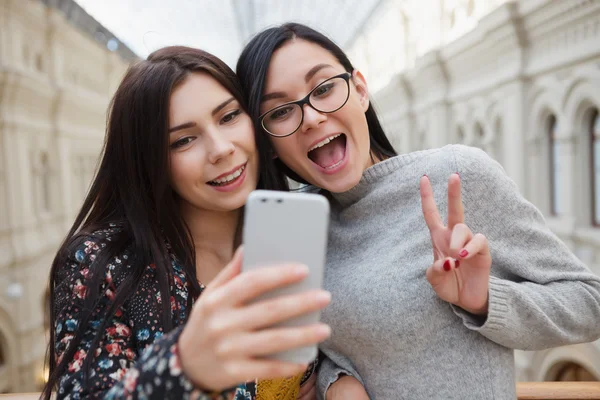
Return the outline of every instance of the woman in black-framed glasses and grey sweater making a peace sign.
[[[396,155],[364,76],[327,37],[267,29],[237,74],[261,179],[331,202],[321,394],[351,376],[374,399],[514,399],[513,349],[600,337],[600,278],[502,167],[458,145]]]

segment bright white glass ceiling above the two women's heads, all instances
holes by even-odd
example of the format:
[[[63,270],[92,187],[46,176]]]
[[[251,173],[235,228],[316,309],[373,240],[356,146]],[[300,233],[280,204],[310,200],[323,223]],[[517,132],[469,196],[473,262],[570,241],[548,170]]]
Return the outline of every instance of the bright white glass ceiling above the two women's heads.
[[[207,50],[234,66],[268,26],[308,24],[347,48],[385,0],[76,0],[138,56],[173,44]]]

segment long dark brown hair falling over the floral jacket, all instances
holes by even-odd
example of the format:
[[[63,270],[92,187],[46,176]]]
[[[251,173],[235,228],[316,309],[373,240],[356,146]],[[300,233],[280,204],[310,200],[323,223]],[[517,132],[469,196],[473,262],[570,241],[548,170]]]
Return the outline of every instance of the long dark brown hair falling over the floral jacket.
[[[212,76],[244,107],[242,90],[231,68],[207,52],[182,46],[157,50],[146,60],[131,66],[111,101],[97,173],[50,270],[50,376],[42,394],[45,399],[50,398],[88,329],[92,311],[101,299],[99,288],[111,258],[125,249],[134,255],[130,273],[119,285],[114,301],[102,316],[103,324],[135,293],[144,268],[151,263],[156,266],[161,298],[169,298],[169,285],[173,279],[171,254],[181,262],[188,278],[189,301],[200,294],[194,243],[177,206],[177,194],[169,184],[170,97],[173,89],[193,72]],[[81,241],[111,224],[118,226],[116,237],[106,242],[106,247],[90,267],[86,281],[89,290],[77,330],[57,363],[54,347],[56,285],[61,281],[68,257]],[[186,312],[190,308],[186,307]],[[168,332],[174,326],[168,301],[162,302],[161,311],[161,322]],[[87,349],[84,376],[88,375],[86,371],[104,328],[103,325],[98,330],[92,347]]]

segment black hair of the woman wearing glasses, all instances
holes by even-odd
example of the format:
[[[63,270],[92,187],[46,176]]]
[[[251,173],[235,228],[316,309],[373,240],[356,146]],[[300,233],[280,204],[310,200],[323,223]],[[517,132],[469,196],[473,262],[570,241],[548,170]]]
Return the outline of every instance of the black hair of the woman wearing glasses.
[[[248,112],[254,121],[257,136],[258,152],[260,155],[260,180],[269,186],[269,189],[278,189],[281,185],[282,174],[300,183],[307,183],[294,171],[289,169],[279,159],[273,159],[274,150],[268,134],[264,131],[258,117],[260,116],[260,99],[265,88],[267,72],[273,53],[284,44],[293,39],[302,39],[315,43],[329,51],[348,72],[353,72],[354,67],[344,51],[331,39],[322,33],[302,24],[287,23],[274,28],[266,29],[256,34],[244,47],[237,62],[236,72],[244,95],[248,102]],[[369,102],[365,111],[371,146],[371,157],[384,160],[396,155],[390,141],[385,135],[377,112]]]

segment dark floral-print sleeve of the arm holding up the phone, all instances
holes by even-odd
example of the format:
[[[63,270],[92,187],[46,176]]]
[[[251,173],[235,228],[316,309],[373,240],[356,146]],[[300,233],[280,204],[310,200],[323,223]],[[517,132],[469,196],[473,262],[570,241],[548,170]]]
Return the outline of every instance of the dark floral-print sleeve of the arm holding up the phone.
[[[101,251],[102,244],[85,241],[69,257],[60,271],[55,289],[56,337],[54,347],[60,362],[72,344],[79,324],[86,294],[90,264]],[[116,263],[113,263],[116,264]],[[113,265],[111,264],[111,266]],[[57,399],[229,399],[233,391],[207,394],[196,390],[183,374],[177,353],[177,339],[182,327],[162,336],[138,357],[135,338],[128,326],[127,311],[121,307],[111,315],[91,354],[89,369],[85,360],[101,329],[103,315],[114,299],[114,270],[106,268],[101,283],[100,300],[83,331],[76,351],[59,378]],[[86,374],[84,374],[84,370]],[[84,377],[84,375],[87,375]]]

